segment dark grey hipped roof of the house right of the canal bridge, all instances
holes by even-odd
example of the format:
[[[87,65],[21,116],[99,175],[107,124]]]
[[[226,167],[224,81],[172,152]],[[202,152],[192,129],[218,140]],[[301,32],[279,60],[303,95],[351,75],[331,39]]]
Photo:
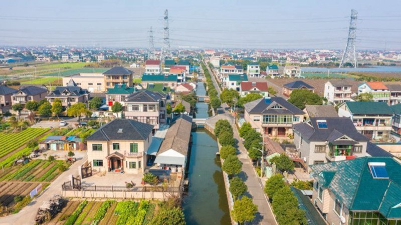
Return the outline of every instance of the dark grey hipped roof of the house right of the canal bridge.
[[[304,114],[305,112],[299,109],[297,106],[286,101],[282,97],[270,97],[271,103],[266,103],[265,98],[259,98],[254,101],[244,104],[245,110],[249,113],[264,113],[264,114]],[[284,109],[271,108],[274,105],[279,104]]]

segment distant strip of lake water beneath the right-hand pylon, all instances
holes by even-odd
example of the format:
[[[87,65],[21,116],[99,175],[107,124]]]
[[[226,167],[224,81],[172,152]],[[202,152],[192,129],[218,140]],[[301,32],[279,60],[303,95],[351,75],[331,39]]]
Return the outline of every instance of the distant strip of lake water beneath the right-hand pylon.
[[[401,72],[401,66],[371,65],[362,68],[322,68],[322,67],[301,67],[304,72]]]

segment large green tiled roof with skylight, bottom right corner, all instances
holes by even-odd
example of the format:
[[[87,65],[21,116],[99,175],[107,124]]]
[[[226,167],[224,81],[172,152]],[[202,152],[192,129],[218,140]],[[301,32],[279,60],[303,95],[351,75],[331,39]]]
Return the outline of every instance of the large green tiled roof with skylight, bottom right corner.
[[[368,163],[384,162],[388,178],[373,178]],[[386,217],[401,217],[401,164],[391,157],[359,157],[310,165],[314,177],[334,172],[328,188],[350,210],[380,211]]]

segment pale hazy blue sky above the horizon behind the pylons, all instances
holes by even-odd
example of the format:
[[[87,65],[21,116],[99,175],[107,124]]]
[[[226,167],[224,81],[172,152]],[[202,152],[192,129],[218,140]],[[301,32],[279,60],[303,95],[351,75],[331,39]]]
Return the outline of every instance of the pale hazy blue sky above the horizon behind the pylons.
[[[357,49],[401,49],[399,0],[8,0],[0,45],[343,49],[351,9]]]

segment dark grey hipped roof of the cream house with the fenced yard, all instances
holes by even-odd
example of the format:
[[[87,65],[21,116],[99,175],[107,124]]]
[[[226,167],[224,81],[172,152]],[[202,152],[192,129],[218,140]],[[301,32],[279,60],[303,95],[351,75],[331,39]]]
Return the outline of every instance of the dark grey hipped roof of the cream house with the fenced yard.
[[[122,132],[118,132],[122,129]],[[114,119],[97,129],[86,140],[146,140],[153,125],[132,119]]]

